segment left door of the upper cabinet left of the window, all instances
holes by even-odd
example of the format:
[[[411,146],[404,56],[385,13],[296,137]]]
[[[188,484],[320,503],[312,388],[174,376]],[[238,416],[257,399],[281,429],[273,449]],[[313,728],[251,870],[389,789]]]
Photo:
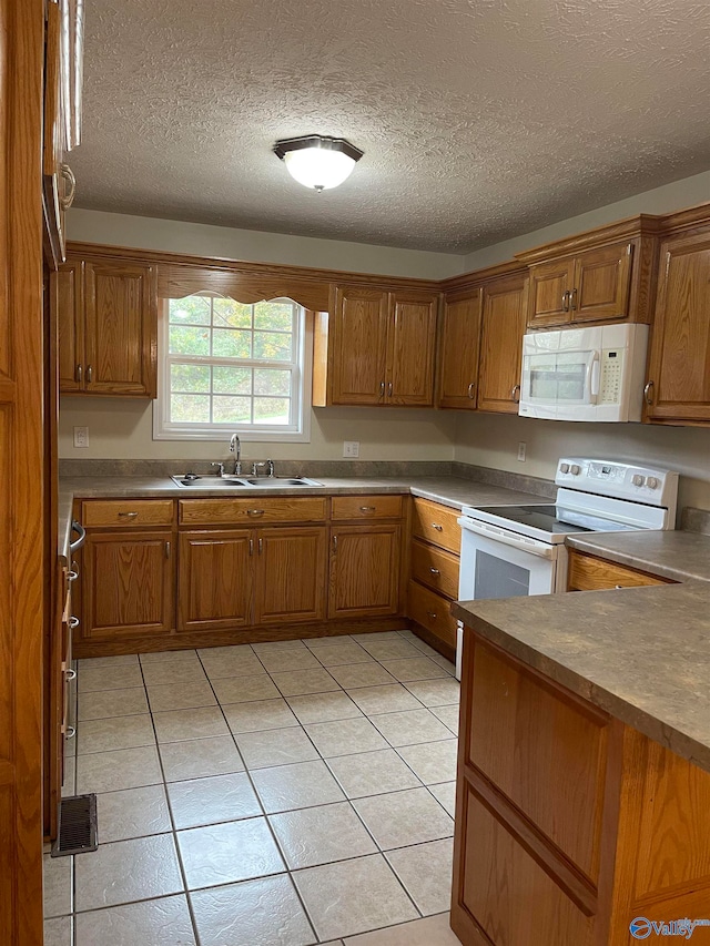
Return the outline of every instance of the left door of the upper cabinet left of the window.
[[[70,260],[52,273],[52,305],[58,334],[59,389],[77,394],[83,389],[84,366],[84,264]]]

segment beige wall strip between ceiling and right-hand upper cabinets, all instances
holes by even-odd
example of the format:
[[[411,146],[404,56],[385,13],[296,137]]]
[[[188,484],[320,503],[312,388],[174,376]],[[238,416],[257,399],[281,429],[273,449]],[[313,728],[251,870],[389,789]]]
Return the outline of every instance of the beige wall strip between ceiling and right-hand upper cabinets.
[[[541,230],[516,236],[514,240],[506,240],[503,243],[486,246],[484,250],[477,250],[464,256],[462,272],[470,273],[474,269],[483,269],[496,263],[504,263],[506,260],[511,260],[516,253],[523,253],[524,250],[541,246],[566,236],[574,236],[576,233],[584,233],[586,230],[594,230],[596,226],[604,226],[628,216],[636,216],[636,214],[641,213],[672,213],[692,207],[696,204],[704,204],[707,201],[710,201],[710,171],[696,174],[693,177],[683,177],[683,180],[676,181],[672,184],[666,184],[653,191],[646,191],[635,197],[628,197],[626,201],[618,201],[616,204],[607,204],[579,216],[558,221]]]

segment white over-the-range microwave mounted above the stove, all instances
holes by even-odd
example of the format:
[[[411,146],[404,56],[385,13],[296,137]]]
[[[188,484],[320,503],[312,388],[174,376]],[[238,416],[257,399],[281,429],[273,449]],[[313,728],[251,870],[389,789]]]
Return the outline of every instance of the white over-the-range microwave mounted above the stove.
[[[523,417],[640,420],[648,325],[530,332],[523,339]]]

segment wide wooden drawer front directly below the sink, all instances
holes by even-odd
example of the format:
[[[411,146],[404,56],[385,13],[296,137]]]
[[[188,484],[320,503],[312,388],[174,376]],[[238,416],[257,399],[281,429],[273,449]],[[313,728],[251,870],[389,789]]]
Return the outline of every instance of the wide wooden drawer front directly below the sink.
[[[288,496],[278,499],[181,499],[180,523],[320,522],[325,519],[326,501],[318,496],[296,499]]]

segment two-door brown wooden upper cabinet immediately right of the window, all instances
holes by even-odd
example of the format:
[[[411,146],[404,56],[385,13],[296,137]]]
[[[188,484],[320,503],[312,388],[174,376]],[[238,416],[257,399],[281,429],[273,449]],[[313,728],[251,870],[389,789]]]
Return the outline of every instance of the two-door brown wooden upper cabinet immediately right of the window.
[[[315,406],[434,404],[437,293],[337,286],[316,325]]]

